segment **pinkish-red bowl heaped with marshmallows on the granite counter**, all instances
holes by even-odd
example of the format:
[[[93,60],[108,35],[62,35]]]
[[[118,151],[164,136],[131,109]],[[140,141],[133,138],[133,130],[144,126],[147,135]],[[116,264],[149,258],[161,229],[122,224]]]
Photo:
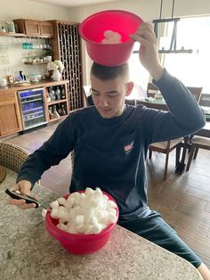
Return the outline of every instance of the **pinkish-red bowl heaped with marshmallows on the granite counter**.
[[[45,228],[73,254],[99,251],[117,225],[117,202],[100,188],[66,194],[50,206]]]

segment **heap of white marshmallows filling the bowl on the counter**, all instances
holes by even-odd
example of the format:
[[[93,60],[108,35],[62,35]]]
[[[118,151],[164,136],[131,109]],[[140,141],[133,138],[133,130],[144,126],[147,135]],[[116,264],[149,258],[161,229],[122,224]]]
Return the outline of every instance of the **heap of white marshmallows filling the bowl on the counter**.
[[[117,205],[100,188],[87,187],[85,193],[70,194],[50,204],[51,217],[58,218],[58,227],[70,234],[99,234],[117,221]]]

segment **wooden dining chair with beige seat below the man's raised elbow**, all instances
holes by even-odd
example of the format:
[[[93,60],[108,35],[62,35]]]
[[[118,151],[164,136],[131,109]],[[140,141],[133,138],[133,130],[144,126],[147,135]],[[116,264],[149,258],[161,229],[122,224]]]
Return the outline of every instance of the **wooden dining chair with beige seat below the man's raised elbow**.
[[[137,101],[137,104],[144,105],[146,107],[162,110],[162,111],[169,111],[166,104],[162,103],[149,103],[144,101]],[[153,143],[149,145],[149,160],[151,159],[152,152],[162,152],[166,154],[166,162],[165,162],[165,170],[164,170],[164,180],[167,178],[167,168],[168,168],[168,160],[169,160],[169,153],[176,149],[176,156],[175,156],[175,167],[177,167],[179,160],[180,160],[180,152],[182,148],[182,140],[183,138],[176,138],[174,140]]]

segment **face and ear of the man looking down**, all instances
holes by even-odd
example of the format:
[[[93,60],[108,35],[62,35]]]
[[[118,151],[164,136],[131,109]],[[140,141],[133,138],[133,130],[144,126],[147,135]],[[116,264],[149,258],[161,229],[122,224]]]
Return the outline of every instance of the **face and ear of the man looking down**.
[[[125,108],[125,96],[130,95],[133,88],[131,84],[125,82],[125,78],[122,77],[103,81],[92,75],[93,103],[102,118],[110,119],[122,114]]]

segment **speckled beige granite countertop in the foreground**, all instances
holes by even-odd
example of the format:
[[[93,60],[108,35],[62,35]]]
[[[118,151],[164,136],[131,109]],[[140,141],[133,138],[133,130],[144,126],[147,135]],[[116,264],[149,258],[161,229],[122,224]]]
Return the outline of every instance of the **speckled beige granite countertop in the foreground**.
[[[202,279],[186,260],[121,226],[101,251],[82,257],[70,254],[44,229],[41,209],[23,211],[7,204],[4,190],[12,187],[14,178],[8,170],[0,185],[0,279]],[[35,192],[45,205],[58,197],[40,186]]]

